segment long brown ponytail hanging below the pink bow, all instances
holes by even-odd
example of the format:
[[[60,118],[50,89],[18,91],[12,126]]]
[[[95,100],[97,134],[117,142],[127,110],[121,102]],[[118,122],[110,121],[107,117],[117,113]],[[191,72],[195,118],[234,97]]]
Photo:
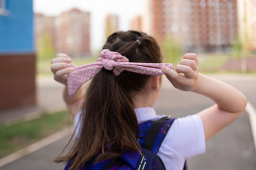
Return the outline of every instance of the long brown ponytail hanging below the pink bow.
[[[132,99],[125,92],[112,71],[102,69],[86,90],[81,136],[76,141],[75,150],[68,153],[72,157],[70,169],[79,169],[84,162],[95,158],[115,159],[125,150],[140,152],[136,140],[138,121]]]

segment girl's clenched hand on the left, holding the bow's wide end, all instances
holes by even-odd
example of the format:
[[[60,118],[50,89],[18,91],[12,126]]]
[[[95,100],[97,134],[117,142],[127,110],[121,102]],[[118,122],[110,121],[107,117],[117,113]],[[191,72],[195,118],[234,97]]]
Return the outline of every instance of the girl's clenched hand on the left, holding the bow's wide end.
[[[51,63],[54,80],[67,85],[67,74],[74,70],[71,58],[65,53],[58,53],[57,57],[51,60]]]

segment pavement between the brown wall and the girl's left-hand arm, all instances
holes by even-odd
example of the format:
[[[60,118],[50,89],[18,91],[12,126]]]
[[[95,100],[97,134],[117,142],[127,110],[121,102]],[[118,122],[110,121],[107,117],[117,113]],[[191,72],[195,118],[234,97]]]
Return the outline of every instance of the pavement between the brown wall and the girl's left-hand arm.
[[[10,123],[21,118],[33,119],[40,117],[44,111],[54,112],[65,109],[61,99],[63,85],[51,76],[36,79],[36,105],[12,110],[0,111],[0,123]]]

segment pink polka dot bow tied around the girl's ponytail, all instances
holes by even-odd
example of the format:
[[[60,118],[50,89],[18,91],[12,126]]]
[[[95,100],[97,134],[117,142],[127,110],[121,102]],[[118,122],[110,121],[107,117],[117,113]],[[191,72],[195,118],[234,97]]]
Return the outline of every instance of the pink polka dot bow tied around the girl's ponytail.
[[[173,69],[172,64],[168,63],[129,62],[129,60],[120,53],[104,49],[100,52],[96,62],[74,67],[74,71],[68,74],[68,94],[73,96],[83,83],[93,78],[103,67],[108,70],[113,70],[115,76],[118,76],[123,70],[160,76],[164,74],[161,71],[163,65]]]

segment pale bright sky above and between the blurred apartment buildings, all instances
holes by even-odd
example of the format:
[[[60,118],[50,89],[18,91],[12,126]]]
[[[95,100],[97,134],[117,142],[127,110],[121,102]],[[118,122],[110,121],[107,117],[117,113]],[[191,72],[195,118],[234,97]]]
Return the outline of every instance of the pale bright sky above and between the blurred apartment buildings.
[[[91,48],[102,48],[104,43],[104,22],[108,13],[119,17],[118,29],[129,30],[131,18],[142,15],[144,0],[34,0],[34,11],[45,15],[59,15],[70,8],[79,8],[91,13]]]

